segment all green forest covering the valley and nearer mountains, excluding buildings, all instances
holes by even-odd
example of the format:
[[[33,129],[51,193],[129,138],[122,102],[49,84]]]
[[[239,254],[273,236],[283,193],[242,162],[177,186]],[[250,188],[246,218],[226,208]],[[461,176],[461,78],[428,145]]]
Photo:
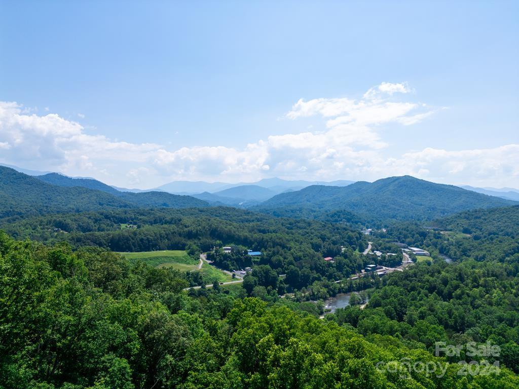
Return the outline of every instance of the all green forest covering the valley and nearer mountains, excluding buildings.
[[[308,206],[258,213],[0,173],[0,388],[519,387],[517,205],[437,184],[420,200],[409,186],[431,183],[393,177],[337,208],[310,187]],[[403,189],[415,199],[396,201]],[[431,256],[404,268],[407,246]],[[223,285],[116,253],[161,250],[251,269]],[[330,313],[340,293],[349,306]],[[499,353],[437,356],[436,342]]]

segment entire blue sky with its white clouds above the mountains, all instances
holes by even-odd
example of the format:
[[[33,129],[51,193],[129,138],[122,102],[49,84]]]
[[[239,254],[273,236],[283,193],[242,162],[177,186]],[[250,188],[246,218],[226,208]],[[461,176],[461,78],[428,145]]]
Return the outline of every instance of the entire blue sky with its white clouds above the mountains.
[[[141,188],[519,187],[518,17],[514,1],[0,1],[0,162]]]

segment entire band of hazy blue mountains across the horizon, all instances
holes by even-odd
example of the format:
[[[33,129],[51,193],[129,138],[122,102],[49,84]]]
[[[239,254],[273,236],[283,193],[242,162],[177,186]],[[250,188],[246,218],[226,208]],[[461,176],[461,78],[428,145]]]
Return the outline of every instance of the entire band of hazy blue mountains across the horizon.
[[[3,202],[0,217],[13,216],[20,207],[24,212],[41,214],[73,209],[91,211],[100,207],[184,208],[223,205],[245,207],[278,216],[299,217],[304,213],[315,217],[335,212],[344,215],[351,213],[356,220],[431,220],[460,211],[517,204],[511,199],[488,196],[452,185],[435,184],[411,176],[389,177],[374,183],[350,184],[340,181],[337,184],[343,186],[326,183],[297,189],[297,185],[308,183],[272,178],[258,182],[261,185],[240,185],[215,193],[181,196],[165,191],[119,191],[95,179],[72,178],[58,173],[32,177],[0,166],[0,200]],[[177,186],[181,187],[186,188],[186,182]]]

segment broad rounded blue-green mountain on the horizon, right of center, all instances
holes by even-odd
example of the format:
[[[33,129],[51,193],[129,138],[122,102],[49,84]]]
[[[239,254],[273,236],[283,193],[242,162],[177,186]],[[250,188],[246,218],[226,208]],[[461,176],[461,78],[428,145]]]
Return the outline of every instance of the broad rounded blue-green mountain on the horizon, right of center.
[[[314,185],[281,193],[253,210],[290,216],[301,210],[345,210],[370,219],[430,220],[456,212],[507,206],[511,200],[411,176],[389,177],[346,187]]]

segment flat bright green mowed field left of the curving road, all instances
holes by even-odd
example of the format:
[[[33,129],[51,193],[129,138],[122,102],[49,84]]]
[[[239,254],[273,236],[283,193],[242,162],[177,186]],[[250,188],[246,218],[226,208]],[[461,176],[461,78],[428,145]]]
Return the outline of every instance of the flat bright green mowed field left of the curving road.
[[[190,257],[183,250],[143,251],[140,253],[119,253],[130,262],[141,260],[153,267],[172,267],[181,271],[192,271],[198,266],[198,260]]]

